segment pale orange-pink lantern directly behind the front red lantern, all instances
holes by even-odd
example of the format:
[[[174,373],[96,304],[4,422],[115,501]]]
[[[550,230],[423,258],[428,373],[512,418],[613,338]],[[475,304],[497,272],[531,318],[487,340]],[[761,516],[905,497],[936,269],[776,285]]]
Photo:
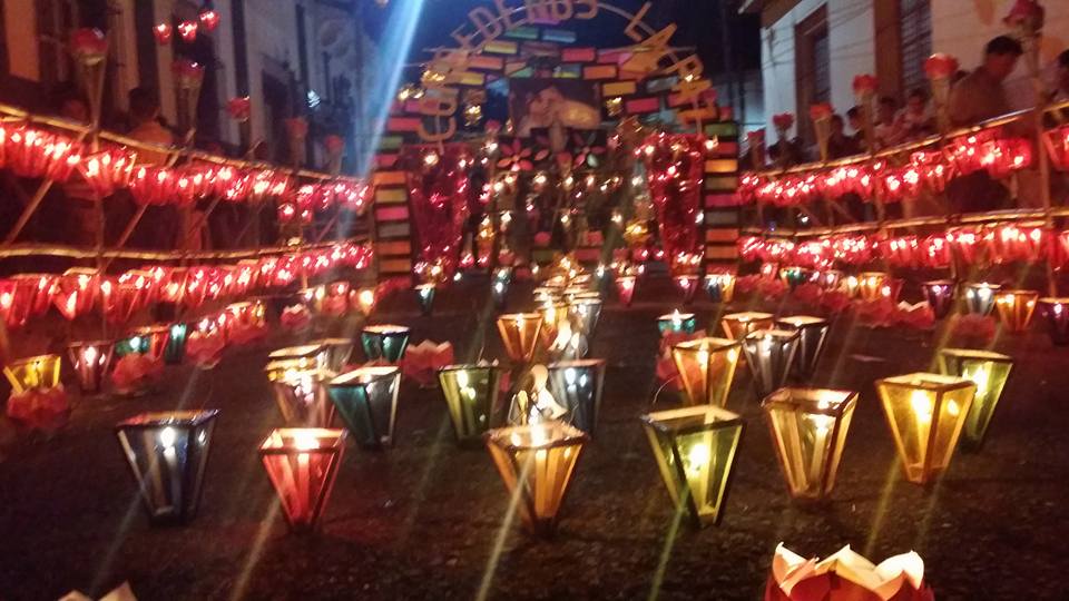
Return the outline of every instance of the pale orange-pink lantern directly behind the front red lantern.
[[[326,384],[334,374],[308,367],[301,359],[276,361],[264,367],[275,403],[290,426],[330,427],[334,422],[334,404]]]

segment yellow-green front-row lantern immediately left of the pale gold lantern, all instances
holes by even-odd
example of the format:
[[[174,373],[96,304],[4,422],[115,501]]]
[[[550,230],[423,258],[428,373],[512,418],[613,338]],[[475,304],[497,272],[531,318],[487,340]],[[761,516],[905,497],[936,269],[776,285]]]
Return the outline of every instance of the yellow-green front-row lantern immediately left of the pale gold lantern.
[[[686,511],[694,528],[717,523],[743,420],[703,405],[650,413],[641,421],[676,511]]]

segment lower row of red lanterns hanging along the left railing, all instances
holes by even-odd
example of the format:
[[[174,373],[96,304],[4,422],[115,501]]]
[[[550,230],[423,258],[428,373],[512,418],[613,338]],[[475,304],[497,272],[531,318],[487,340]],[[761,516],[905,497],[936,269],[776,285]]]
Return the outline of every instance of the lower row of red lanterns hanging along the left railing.
[[[67,319],[100,311],[112,324],[126,323],[155,303],[199,307],[207,300],[242,297],[256,290],[284,288],[302,277],[339,267],[365,268],[371,247],[340,244],[320,250],[195,267],[154,266],[121,275],[73,268],[62,275],[19,274],[0,279],[0,318],[21,327],[55,306]]]

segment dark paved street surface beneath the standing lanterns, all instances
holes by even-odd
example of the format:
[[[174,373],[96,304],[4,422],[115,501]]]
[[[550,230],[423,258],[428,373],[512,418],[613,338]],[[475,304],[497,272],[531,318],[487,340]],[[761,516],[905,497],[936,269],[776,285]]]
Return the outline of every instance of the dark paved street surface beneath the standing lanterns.
[[[650,288],[657,288],[651,286]],[[0,463],[0,599],[100,593],[129,580],[141,599],[759,599],[779,541],[826,555],[850,543],[879,560],[915,549],[939,599],[1063,600],[1069,520],[1069,353],[1041,333],[1007,338],[1018,373],[981,454],[959,454],[925,490],[900,477],[872,382],[926,367],[938,333],[836,325],[821,377],[862,392],[832,501],[792,503],[742,373],[728,406],[747,421],[719,526],[671,535],[673,509],[637,417],[653,395],[656,315],[668,294],[610,306],[594,354],[609,361],[600,430],[577,469],[556,541],[502,530],[507,494],[484,451],[460,451],[437,390],[402,392],[395,449],[350,449],[318,536],[288,535],[256,446],[278,425],[261,376],[272,345],[227,355],[205,378],[168,372],[161,394],[89,401],[57,439]],[[479,339],[486,288],[375,321],[414,339]],[[520,296],[517,295],[517,298]],[[526,296],[524,296],[526,297]],[[651,297],[665,302],[654,303]],[[645,299],[645,300],[644,300]],[[519,306],[519,303],[517,303]],[[716,307],[697,306],[703,324]],[[790,313],[790,308],[784,308]],[[500,356],[497,334],[487,356]],[[222,410],[202,513],[149,528],[111,434],[146,410]],[[670,404],[664,397],[660,403]]]

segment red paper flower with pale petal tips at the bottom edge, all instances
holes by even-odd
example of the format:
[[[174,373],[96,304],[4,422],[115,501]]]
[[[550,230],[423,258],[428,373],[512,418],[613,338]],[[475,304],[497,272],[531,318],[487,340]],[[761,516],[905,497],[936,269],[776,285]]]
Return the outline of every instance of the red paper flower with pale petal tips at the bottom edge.
[[[823,561],[805,559],[779,543],[765,601],[934,601],[924,584],[924,561],[910,551],[879,565],[842,548]]]

